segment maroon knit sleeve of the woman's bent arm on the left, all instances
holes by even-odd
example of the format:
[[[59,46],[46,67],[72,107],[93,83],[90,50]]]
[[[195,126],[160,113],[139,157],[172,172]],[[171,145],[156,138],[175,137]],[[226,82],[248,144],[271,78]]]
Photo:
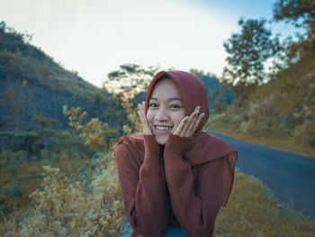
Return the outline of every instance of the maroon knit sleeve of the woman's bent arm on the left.
[[[169,198],[161,148],[154,135],[144,135],[145,155],[138,171],[128,144],[121,142],[115,149],[115,159],[121,185],[121,195],[128,221],[137,234],[161,236],[166,229]]]

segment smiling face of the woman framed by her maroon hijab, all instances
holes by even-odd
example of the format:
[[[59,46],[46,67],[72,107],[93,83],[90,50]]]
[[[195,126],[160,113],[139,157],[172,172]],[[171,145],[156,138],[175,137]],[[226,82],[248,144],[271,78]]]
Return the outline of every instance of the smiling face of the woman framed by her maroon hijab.
[[[179,88],[170,78],[164,78],[154,87],[148,101],[148,124],[157,143],[165,145],[168,135],[185,116]]]

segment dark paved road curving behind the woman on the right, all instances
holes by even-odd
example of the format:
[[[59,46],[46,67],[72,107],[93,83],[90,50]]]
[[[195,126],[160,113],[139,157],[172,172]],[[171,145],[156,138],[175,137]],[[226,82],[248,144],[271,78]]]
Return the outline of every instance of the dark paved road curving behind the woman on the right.
[[[259,178],[280,202],[315,220],[314,158],[211,134],[238,150],[240,171]]]

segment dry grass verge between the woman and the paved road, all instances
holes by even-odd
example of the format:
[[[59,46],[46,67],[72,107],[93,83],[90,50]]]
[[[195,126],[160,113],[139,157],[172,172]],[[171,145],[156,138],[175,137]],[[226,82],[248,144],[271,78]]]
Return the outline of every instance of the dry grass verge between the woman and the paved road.
[[[220,209],[215,234],[229,236],[315,236],[315,223],[278,203],[257,178],[236,172],[229,204]]]

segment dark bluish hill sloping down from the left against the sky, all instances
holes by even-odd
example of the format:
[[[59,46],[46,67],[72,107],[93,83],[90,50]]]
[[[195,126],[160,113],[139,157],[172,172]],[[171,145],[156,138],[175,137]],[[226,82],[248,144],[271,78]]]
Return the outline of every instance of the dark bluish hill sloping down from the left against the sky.
[[[33,114],[54,118],[54,128],[65,129],[62,105],[80,106],[89,117],[116,125],[115,119],[103,115],[117,106],[112,95],[60,66],[29,38],[0,23],[0,130],[36,130]]]

